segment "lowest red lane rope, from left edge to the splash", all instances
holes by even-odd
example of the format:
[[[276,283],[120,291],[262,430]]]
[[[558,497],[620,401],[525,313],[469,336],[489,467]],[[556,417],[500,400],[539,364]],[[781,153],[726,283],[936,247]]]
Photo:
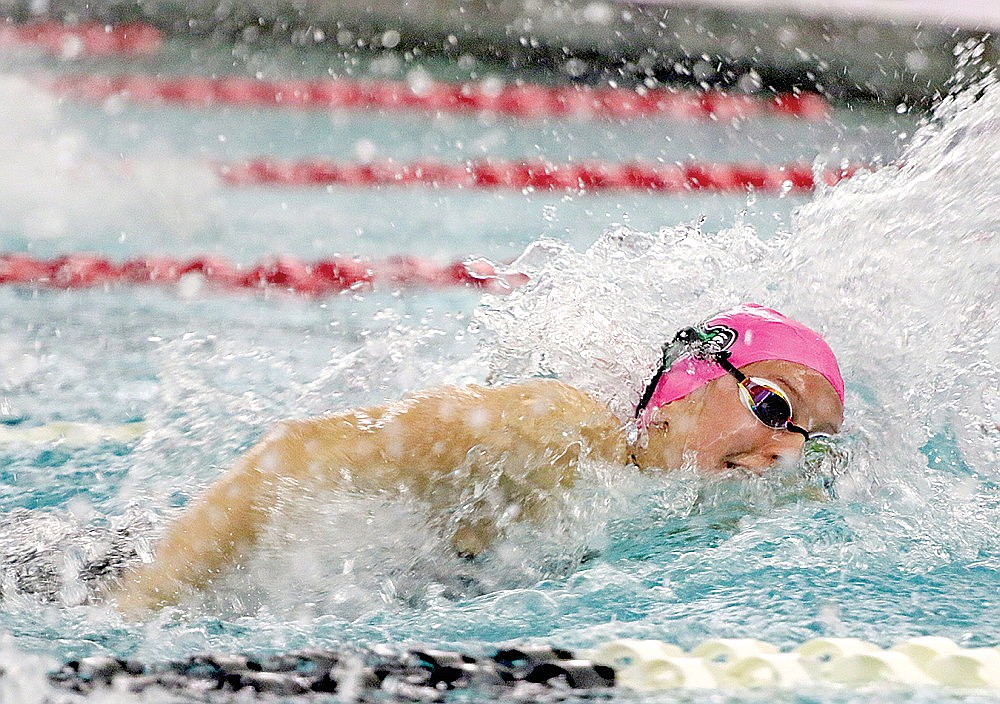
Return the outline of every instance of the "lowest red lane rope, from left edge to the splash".
[[[0,255],[0,285],[57,289],[135,284],[180,284],[200,277],[213,288],[281,290],[324,296],[378,286],[443,288],[469,286],[503,293],[527,281],[522,274],[498,271],[485,259],[440,265],[411,256],[378,262],[337,257],[303,262],[294,257],[242,267],[214,255],[191,259],[144,257],[116,263],[93,254],[40,259],[26,254]],[[196,284],[197,286],[197,281]],[[197,290],[197,289],[196,289]]]

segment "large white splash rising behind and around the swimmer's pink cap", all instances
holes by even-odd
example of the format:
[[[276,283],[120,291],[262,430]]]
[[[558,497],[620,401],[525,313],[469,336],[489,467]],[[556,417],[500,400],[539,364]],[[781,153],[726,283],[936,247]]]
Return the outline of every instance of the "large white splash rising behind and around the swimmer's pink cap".
[[[899,164],[821,190],[766,242],[742,223],[619,229],[585,252],[539,242],[512,265],[531,282],[477,313],[492,376],[557,375],[627,418],[674,331],[754,301],[827,336],[873,448],[912,459],[954,433],[998,476],[998,126],[1000,86],[960,93]]]

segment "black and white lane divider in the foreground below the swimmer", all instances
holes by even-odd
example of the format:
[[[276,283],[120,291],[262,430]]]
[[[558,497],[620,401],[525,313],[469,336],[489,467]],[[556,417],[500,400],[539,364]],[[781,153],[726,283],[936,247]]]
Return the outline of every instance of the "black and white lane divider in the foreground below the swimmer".
[[[67,662],[49,680],[81,693],[107,687],[199,696],[219,691],[308,698],[349,692],[392,701],[443,701],[450,690],[502,696],[515,687],[520,699],[529,694],[547,699],[546,689],[598,694],[616,687],[637,692],[816,687],[996,692],[1000,650],[962,648],[948,638],[923,636],[889,649],[857,638],[816,638],[784,652],[766,641],[721,638],[688,652],[663,641],[617,640],[588,651],[526,645],[486,655],[310,650],[262,658],[202,654],[153,664],[101,656]]]

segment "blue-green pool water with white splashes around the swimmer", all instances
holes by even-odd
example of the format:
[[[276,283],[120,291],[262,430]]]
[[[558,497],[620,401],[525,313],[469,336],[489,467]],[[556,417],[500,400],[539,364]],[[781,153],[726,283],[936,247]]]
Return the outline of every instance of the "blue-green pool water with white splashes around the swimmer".
[[[210,252],[240,263],[276,253],[485,256],[516,259],[531,278],[506,296],[381,289],[322,300],[0,289],[0,422],[145,424],[132,442],[0,445],[0,657],[39,658],[6,678],[22,701],[47,696],[32,688],[33,672],[92,654],[378,644],[480,653],[507,641],[582,648],[620,637],[683,647],[709,637],[791,647],[818,635],[1000,643],[1000,186],[984,176],[1000,167],[992,84],[958,93],[919,128],[921,116],[895,107],[850,106],[821,123],[515,121],[91,105],[32,82],[84,70],[492,72],[468,62],[461,71],[353,65],[316,50],[186,42],[149,65],[3,61],[4,251]],[[751,198],[235,189],[208,166],[373,154],[894,165],[813,197]],[[101,556],[148,554],[165,521],[276,420],[537,375],[622,412],[666,336],[747,299],[822,329],[841,356],[845,433],[812,473],[709,481],[587,466],[546,524],[512,530],[474,563],[449,554],[419,506],[316,497],[218,593],[143,622],[94,601],[81,576]],[[824,500],[808,498],[831,478]]]

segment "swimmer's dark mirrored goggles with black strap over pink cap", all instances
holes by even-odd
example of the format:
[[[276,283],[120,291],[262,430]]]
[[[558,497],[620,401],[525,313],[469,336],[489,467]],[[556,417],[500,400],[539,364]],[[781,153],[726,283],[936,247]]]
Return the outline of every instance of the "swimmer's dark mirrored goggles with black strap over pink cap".
[[[679,357],[686,354],[695,359],[714,362],[736,379],[740,387],[740,400],[743,405],[767,427],[798,433],[806,440],[820,436],[825,437],[825,433],[810,433],[805,428],[792,423],[792,403],[778,385],[760,377],[748,377],[741,372],[729,361],[730,353],[728,351],[712,350],[710,344],[704,344],[710,343],[712,337],[712,335],[705,334],[696,328],[684,328],[674,336],[671,342],[663,346],[663,359],[646,386],[642,400],[636,406],[636,418],[645,410],[646,405],[653,397],[660,377],[670,369]]]

